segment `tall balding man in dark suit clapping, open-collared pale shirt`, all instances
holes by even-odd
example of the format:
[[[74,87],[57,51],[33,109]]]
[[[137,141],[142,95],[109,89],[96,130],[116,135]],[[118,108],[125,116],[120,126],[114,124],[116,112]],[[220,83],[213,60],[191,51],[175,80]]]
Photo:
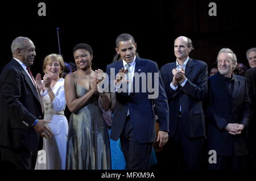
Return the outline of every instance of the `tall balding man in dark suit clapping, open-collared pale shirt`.
[[[159,164],[167,162],[172,169],[179,163],[183,169],[200,169],[205,137],[202,101],[207,95],[208,71],[205,62],[188,57],[192,49],[191,39],[177,37],[176,61],[161,69],[170,108],[170,139],[159,153]]]

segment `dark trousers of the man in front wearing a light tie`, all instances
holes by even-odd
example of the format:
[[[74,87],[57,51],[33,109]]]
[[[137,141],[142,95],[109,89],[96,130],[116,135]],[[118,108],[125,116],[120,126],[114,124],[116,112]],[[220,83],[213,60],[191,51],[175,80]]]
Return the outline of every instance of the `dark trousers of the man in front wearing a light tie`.
[[[152,142],[139,144],[134,136],[130,116],[126,117],[125,126],[120,137],[126,169],[149,169],[152,151]]]

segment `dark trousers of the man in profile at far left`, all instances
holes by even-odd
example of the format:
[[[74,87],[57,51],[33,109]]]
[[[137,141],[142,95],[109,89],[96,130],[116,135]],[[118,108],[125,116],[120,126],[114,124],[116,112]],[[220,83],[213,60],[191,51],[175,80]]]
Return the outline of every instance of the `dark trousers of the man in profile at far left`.
[[[0,168],[7,170],[34,170],[36,163],[35,153],[37,151],[0,146]]]

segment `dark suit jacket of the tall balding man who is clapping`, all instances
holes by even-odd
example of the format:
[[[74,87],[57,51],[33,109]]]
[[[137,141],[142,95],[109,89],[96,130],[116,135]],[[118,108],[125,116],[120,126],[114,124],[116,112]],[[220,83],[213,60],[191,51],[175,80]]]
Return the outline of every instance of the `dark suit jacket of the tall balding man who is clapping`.
[[[189,58],[185,68],[185,77],[187,82],[184,87],[179,87],[174,91],[170,83],[174,75],[172,69],[175,69],[176,61],[166,64],[161,69],[164,88],[166,90],[169,108],[170,108],[170,137],[175,136],[177,129],[177,114],[180,110],[186,124],[186,134],[190,138],[205,136],[205,123],[202,101],[207,95],[207,64],[200,60]]]

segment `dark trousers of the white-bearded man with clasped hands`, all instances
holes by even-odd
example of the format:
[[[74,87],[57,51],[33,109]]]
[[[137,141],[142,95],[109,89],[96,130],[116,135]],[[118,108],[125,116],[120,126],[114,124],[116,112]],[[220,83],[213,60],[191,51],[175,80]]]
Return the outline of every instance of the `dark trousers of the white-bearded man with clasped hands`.
[[[209,163],[209,170],[245,170],[247,155],[224,157],[217,156],[217,163]]]

